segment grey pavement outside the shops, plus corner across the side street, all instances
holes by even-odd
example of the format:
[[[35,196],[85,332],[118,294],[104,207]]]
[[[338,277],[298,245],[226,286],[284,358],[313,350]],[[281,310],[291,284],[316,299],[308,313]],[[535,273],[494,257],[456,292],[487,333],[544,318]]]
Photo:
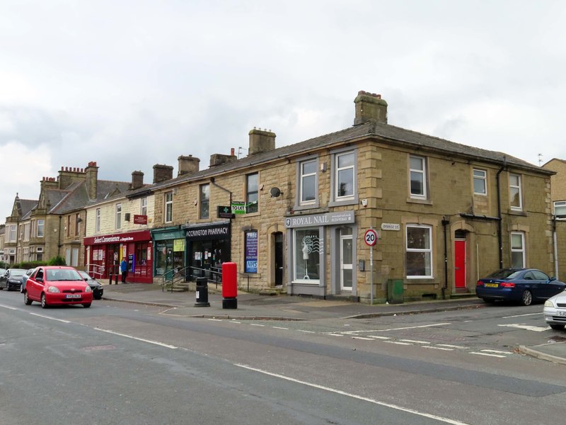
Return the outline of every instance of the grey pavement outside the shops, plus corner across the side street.
[[[313,320],[345,319],[391,316],[393,314],[419,314],[482,308],[482,300],[473,297],[460,300],[432,300],[406,302],[403,304],[366,305],[342,300],[320,300],[311,297],[288,295],[258,295],[238,291],[237,308],[224,309],[222,295],[214,283],[208,286],[209,306],[202,306],[202,295],[197,302],[194,292],[163,291],[161,285],[147,283],[120,283],[104,285],[105,300],[134,302],[145,305],[175,308],[176,313],[187,317],[208,317],[223,319],[279,319]],[[565,342],[554,342],[538,346],[519,346],[519,351],[529,356],[566,365]]]

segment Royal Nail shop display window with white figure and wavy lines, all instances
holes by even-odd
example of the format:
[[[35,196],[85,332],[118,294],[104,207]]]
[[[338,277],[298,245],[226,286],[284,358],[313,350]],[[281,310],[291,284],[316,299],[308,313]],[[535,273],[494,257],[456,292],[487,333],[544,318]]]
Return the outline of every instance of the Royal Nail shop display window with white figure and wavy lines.
[[[294,232],[294,280],[318,283],[320,235],[316,229],[296,229]]]

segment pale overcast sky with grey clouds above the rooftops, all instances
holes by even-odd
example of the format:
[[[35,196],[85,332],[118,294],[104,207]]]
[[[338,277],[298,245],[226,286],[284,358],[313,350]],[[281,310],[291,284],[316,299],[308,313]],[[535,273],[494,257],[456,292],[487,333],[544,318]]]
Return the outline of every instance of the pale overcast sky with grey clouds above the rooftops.
[[[61,166],[151,183],[254,127],[347,128],[359,90],[392,125],[566,159],[565,22],[542,0],[0,0],[0,223]]]

